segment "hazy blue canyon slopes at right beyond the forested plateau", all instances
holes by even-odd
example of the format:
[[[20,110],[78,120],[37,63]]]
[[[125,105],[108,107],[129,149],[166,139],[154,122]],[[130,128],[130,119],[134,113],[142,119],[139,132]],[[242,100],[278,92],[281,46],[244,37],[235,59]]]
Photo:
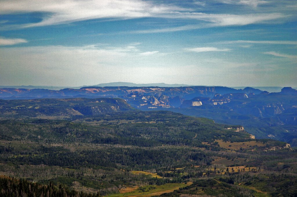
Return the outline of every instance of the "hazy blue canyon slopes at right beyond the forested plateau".
[[[296,95],[270,93],[234,99],[224,96],[195,98],[184,101],[180,108],[167,110],[207,117],[218,123],[243,125],[256,138],[277,139],[297,146]]]

